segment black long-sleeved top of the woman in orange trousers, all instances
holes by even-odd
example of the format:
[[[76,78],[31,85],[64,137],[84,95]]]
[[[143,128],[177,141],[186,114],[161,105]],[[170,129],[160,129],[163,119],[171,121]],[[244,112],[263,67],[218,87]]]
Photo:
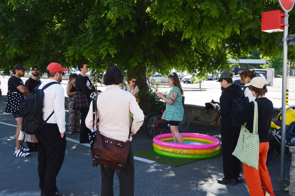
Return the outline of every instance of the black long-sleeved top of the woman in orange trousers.
[[[268,142],[268,132],[271,127],[271,118],[273,116],[273,103],[266,97],[255,99],[258,106],[258,135],[259,142]],[[246,128],[253,133],[254,103],[251,101],[244,106],[243,110],[233,115],[233,121],[236,125],[242,125],[245,122]]]

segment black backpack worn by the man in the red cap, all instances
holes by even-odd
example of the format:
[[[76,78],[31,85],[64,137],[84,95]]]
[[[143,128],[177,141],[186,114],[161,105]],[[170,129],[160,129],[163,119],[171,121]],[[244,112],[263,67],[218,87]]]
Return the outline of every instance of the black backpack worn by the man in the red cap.
[[[47,120],[53,115],[54,111],[48,116],[46,121],[43,120],[43,90],[50,85],[58,84],[50,82],[42,89],[40,85],[33,89],[32,93],[20,104],[20,113],[22,114],[22,131],[26,134],[37,134],[45,125]]]

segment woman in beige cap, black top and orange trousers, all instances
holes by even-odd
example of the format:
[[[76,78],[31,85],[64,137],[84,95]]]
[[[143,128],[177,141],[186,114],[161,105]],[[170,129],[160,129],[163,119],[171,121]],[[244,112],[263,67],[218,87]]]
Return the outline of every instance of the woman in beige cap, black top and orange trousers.
[[[247,183],[250,196],[275,196],[271,185],[271,178],[266,167],[266,157],[268,151],[268,131],[271,126],[271,118],[273,115],[273,103],[264,95],[267,92],[266,79],[263,77],[255,77],[249,86],[251,93],[256,97],[255,101],[258,105],[258,135],[259,135],[259,163],[258,170],[243,163],[244,178]],[[254,103],[251,101],[242,111],[233,115],[233,121],[236,125],[242,125],[245,122],[246,128],[253,133],[254,120]]]

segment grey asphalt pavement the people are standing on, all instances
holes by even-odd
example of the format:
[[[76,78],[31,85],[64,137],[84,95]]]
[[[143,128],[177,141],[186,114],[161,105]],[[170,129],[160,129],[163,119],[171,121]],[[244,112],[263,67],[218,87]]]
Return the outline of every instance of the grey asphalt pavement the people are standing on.
[[[30,157],[14,157],[16,122],[10,113],[4,113],[6,98],[0,98],[0,196],[39,196],[37,152]],[[68,113],[66,115],[68,123]],[[68,126],[66,126],[68,133]],[[214,126],[190,123],[186,132],[207,134],[220,138],[220,129]],[[140,129],[132,140],[133,151],[152,148],[152,139]],[[79,144],[79,132],[66,134],[67,147],[63,166],[57,177],[60,194],[66,196],[99,196],[100,169],[91,167],[89,144]],[[26,144],[25,144],[26,146]],[[137,160],[135,157],[135,195],[142,196],[248,196],[246,183],[235,186],[220,185],[223,177],[222,155],[204,159],[180,167],[158,162]],[[285,178],[289,179],[291,156],[286,155]],[[288,195],[282,190],[280,179],[280,156],[267,165],[276,196]],[[114,195],[119,195],[119,180],[114,176]]]

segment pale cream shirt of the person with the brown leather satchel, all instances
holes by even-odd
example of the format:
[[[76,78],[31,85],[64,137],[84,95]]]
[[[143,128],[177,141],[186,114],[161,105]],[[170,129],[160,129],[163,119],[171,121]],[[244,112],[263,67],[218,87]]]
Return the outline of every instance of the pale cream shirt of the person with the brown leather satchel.
[[[127,141],[129,118],[133,113],[132,133],[136,133],[143,123],[144,115],[135,97],[118,85],[108,85],[97,97],[99,131],[102,135],[119,141]],[[95,123],[96,123],[95,119]],[[142,122],[140,122],[142,121]],[[140,122],[140,123],[137,123]],[[85,120],[86,126],[93,129],[92,102]],[[130,141],[132,137],[130,136]]]

